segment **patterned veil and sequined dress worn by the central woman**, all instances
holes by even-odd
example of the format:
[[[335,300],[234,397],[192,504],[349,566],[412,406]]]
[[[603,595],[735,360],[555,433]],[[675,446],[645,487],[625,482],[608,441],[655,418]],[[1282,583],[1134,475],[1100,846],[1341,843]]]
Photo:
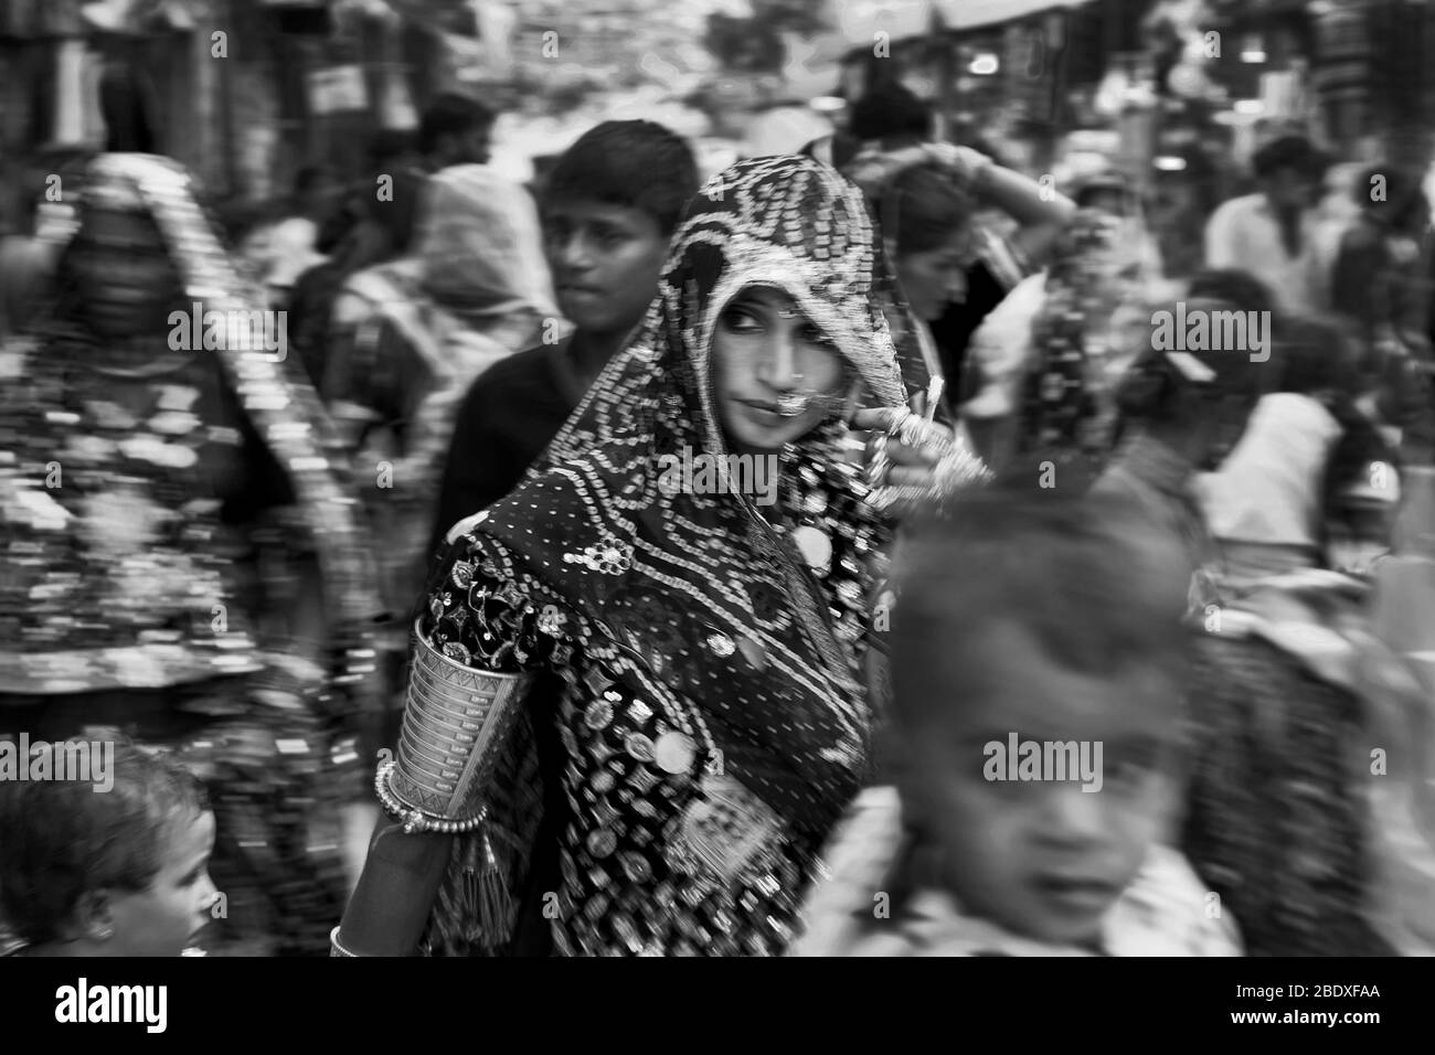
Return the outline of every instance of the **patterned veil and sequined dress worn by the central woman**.
[[[488,835],[458,841],[432,952],[512,952],[519,901],[541,904],[564,955],[771,955],[791,940],[868,766],[861,657],[890,525],[835,416],[784,451],[781,518],[740,494],[659,487],[657,466],[726,456],[713,329],[753,286],[796,301],[871,405],[904,405],[927,379],[914,350],[904,385],[883,274],[861,195],[832,169],[726,169],[689,205],[639,336],[525,484],[449,534],[420,634],[468,669],[542,672],[552,711],[531,698],[491,781]],[[796,525],[825,531],[825,577]],[[515,901],[494,926],[481,877],[498,860]]]

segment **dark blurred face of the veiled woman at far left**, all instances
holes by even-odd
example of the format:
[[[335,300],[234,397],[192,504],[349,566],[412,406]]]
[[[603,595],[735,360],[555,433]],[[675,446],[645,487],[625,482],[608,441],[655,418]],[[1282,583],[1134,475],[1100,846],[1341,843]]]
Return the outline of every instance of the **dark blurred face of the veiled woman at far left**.
[[[70,245],[85,316],[96,333],[132,337],[166,332],[179,276],[154,221],[132,212],[86,212]]]

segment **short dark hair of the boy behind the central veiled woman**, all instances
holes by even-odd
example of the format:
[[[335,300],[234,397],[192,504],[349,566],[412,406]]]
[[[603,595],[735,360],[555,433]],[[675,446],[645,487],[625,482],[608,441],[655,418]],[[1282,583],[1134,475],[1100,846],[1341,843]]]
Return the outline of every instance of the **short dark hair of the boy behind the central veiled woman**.
[[[544,201],[600,201],[647,212],[672,237],[697,194],[692,146],[653,121],[604,121],[570,146],[544,181]]]

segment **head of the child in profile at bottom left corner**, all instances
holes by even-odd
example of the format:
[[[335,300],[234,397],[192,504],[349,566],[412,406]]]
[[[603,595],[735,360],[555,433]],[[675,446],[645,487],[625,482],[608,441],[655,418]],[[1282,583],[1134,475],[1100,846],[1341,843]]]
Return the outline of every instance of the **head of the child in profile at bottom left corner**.
[[[204,785],[128,744],[110,771],[108,791],[0,782],[0,914],[42,952],[178,956],[215,897]]]

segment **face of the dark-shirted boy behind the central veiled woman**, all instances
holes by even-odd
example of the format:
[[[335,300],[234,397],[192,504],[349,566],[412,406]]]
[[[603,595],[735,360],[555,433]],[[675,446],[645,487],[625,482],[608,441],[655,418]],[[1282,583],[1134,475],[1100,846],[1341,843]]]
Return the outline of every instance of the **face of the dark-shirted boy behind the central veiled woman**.
[[[657,294],[667,237],[637,208],[554,201],[544,210],[544,247],[563,314],[580,330],[620,333]]]

